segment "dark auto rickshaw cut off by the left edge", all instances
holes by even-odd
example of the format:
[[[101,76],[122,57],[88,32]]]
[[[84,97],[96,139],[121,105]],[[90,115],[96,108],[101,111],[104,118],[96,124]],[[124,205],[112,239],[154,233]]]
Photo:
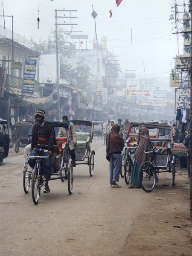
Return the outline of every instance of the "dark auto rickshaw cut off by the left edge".
[[[7,120],[0,118],[0,165],[3,163],[3,158],[9,154],[9,130]]]

